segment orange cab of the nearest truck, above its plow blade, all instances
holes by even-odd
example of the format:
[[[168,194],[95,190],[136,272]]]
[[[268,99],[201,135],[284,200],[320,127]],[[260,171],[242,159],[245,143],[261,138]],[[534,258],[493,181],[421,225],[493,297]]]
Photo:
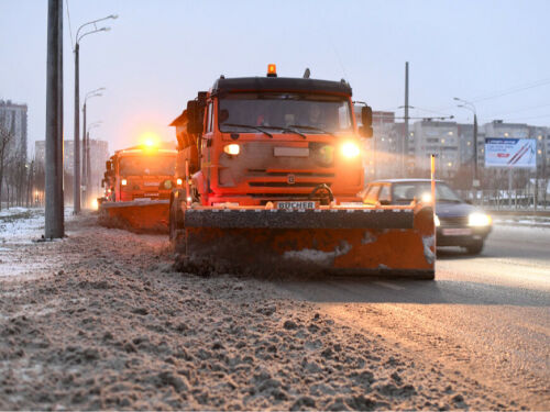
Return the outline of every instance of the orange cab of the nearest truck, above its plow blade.
[[[309,78],[220,77],[199,92],[176,126],[176,178],[201,205],[361,201],[362,137],[348,82]]]

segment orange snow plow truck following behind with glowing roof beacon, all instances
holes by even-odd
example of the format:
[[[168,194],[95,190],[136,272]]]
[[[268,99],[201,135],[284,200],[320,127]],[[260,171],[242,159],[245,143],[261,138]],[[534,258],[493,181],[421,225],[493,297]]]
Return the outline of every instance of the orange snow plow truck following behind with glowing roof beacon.
[[[117,151],[106,163],[99,222],[134,232],[168,232],[177,151],[141,145]],[[183,180],[179,180],[182,185]]]

